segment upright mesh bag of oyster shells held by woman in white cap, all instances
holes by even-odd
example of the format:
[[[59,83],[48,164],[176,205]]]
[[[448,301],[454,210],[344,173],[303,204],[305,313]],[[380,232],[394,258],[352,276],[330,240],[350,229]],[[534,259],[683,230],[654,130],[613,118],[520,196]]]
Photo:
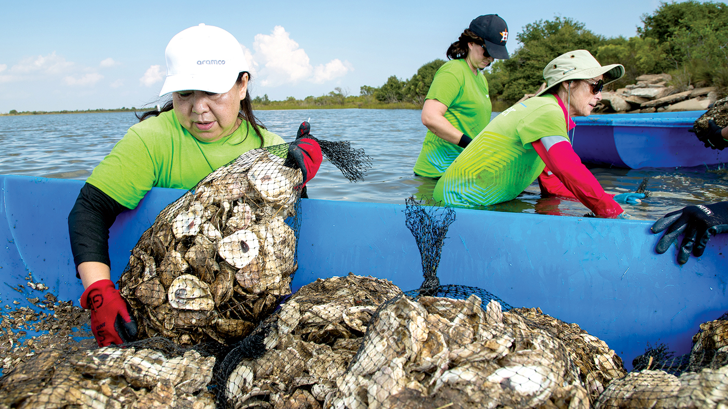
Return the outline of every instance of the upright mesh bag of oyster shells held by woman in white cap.
[[[370,163],[348,142],[306,136],[352,181]],[[119,279],[140,338],[237,341],[290,294],[304,180],[288,152],[248,151],[157,215]]]

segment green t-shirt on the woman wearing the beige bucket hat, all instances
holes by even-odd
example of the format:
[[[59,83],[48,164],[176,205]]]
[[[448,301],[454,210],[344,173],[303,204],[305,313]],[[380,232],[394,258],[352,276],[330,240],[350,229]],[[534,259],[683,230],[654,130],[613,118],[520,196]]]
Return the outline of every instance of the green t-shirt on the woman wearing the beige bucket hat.
[[[438,180],[432,196],[459,207],[515,199],[544,169],[531,142],[547,136],[569,139],[556,98],[548,94],[515,104],[462,151]]]

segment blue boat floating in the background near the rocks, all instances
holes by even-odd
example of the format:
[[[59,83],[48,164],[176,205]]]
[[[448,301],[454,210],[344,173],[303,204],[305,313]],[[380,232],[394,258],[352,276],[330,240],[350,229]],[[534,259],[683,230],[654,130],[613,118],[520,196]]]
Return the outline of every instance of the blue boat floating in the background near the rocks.
[[[728,162],[728,149],[705,148],[688,132],[705,111],[574,118],[574,151],[601,167],[693,167]]]

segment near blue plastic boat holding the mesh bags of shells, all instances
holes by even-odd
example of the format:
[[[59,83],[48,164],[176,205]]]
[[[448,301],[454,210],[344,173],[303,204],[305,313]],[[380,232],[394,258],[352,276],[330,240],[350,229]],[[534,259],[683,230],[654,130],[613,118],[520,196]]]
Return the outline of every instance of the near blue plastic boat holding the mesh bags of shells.
[[[31,306],[42,282],[78,303],[68,244],[68,212],[83,182],[0,176],[1,304]],[[116,280],[162,208],[183,191],[154,188],[111,229]],[[403,290],[422,283],[419,250],[405,226],[404,204],[303,199],[294,290],[318,277],[355,274],[392,280]],[[684,266],[675,251],[654,253],[649,221],[456,210],[438,276],[442,284],[481,287],[513,306],[540,307],[576,322],[620,354],[628,368],[658,340],[689,352],[698,325],[728,310],[728,234]]]

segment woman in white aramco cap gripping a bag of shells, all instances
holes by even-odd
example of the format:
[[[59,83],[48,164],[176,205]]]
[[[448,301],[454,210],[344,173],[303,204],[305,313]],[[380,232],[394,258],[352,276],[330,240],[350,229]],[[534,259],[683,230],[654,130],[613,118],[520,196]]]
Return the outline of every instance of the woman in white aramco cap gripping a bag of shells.
[[[213,170],[250,149],[284,143],[253,115],[250,73],[242,47],[222,28],[200,24],[181,31],[165,50],[167,77],[159,111],[141,116],[81,189],[68,215],[76,275],[85,291],[99,346],[122,344],[136,334],[128,306],[110,279],[108,229],[152,187],[194,187]],[[321,164],[321,149],[298,138],[289,152],[304,183]]]

